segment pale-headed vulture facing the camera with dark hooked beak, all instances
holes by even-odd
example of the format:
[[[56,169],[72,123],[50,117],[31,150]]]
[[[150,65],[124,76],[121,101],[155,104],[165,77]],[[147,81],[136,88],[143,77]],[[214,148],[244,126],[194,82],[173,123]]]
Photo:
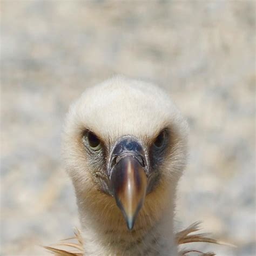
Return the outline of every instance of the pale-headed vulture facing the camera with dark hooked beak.
[[[81,230],[78,243],[63,245],[78,252],[45,248],[56,255],[176,256],[193,251],[179,252],[178,244],[218,243],[190,235],[197,223],[174,232],[187,136],[185,118],[153,84],[116,76],[86,89],[70,107],[63,138]]]

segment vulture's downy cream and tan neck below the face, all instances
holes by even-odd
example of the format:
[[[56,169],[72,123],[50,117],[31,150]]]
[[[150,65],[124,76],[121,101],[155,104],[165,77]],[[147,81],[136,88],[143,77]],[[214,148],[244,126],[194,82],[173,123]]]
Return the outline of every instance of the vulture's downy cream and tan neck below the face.
[[[132,231],[127,229],[115,204],[111,205],[111,212],[102,214],[79,207],[85,255],[177,255],[173,201],[154,218],[149,214],[150,206],[144,206]]]

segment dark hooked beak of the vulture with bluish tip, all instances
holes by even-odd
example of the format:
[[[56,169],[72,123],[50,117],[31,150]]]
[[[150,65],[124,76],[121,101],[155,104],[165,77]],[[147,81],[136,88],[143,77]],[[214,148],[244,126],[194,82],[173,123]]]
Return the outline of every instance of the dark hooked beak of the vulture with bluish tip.
[[[132,230],[147,190],[147,165],[142,145],[126,137],[112,151],[110,184],[127,227]]]

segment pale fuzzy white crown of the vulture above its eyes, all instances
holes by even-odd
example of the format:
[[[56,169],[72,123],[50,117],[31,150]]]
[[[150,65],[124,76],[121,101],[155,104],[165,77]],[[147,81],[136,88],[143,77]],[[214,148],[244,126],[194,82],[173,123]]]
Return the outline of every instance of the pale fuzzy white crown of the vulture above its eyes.
[[[86,127],[106,140],[125,134],[152,138],[169,125],[186,138],[187,124],[165,91],[116,76],[86,89],[71,105],[65,131],[76,133]]]

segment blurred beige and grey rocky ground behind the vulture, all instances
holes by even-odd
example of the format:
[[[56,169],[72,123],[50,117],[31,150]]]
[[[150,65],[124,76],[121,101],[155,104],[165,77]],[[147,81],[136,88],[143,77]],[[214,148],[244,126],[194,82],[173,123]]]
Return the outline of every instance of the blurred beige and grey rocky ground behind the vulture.
[[[187,247],[255,255],[254,1],[2,0],[1,70],[1,255],[46,255],[79,226],[64,117],[117,73],[165,87],[190,124],[177,228],[238,246]]]

